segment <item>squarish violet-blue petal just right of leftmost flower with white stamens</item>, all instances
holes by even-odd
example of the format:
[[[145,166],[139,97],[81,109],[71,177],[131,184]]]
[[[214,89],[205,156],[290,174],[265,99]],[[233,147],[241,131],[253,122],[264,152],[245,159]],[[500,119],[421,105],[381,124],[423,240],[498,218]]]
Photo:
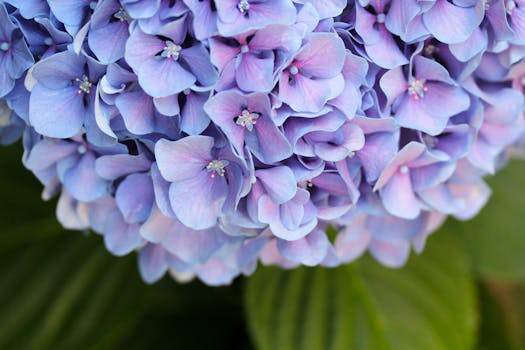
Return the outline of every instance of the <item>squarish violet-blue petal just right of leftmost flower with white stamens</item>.
[[[153,99],[142,91],[120,94],[116,100],[117,106],[126,129],[136,135],[145,135],[155,130],[155,111]]]

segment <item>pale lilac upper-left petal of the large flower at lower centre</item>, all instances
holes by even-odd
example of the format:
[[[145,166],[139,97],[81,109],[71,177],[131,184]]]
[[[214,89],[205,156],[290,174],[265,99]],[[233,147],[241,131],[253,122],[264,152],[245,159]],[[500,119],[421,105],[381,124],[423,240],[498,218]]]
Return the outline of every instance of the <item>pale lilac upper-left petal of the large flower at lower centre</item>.
[[[171,182],[192,178],[211,160],[213,137],[187,136],[177,141],[161,139],[155,145],[155,158],[162,176]]]

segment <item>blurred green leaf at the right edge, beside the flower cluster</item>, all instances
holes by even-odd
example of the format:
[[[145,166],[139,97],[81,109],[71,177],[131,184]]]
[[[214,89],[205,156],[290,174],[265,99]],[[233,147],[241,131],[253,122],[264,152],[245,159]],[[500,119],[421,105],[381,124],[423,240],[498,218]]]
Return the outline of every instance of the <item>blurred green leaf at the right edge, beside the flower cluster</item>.
[[[525,162],[511,161],[488,183],[493,194],[479,215],[448,220],[440,232],[461,238],[478,275],[525,281]]]

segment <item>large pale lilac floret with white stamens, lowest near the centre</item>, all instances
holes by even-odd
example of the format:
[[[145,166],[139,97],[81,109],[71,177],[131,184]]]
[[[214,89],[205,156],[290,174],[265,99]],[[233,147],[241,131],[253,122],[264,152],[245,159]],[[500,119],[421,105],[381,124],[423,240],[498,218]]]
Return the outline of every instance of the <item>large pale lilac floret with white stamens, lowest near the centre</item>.
[[[241,165],[226,150],[216,151],[213,146],[212,137],[201,135],[160,140],[155,146],[160,173],[172,183],[171,208],[195,230],[216,225],[226,202],[238,201],[246,181]]]

